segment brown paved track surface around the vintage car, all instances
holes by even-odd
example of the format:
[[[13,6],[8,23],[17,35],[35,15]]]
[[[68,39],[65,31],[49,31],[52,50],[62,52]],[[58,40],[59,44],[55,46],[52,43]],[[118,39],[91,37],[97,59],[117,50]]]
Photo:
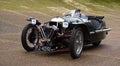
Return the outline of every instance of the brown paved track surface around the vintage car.
[[[99,47],[86,46],[79,59],[69,52],[45,54],[26,52],[21,44],[21,32],[32,16],[41,21],[51,16],[40,12],[0,11],[0,66],[120,66],[120,14],[104,14],[112,28]]]

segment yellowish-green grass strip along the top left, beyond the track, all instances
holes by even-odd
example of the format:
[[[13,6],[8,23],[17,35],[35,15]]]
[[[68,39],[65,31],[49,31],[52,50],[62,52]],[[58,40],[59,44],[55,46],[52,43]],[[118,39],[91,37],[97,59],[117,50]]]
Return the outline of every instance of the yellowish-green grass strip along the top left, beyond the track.
[[[64,3],[62,0],[0,0],[0,9],[12,10],[38,10],[46,11],[47,7],[66,7],[73,8],[72,6]]]

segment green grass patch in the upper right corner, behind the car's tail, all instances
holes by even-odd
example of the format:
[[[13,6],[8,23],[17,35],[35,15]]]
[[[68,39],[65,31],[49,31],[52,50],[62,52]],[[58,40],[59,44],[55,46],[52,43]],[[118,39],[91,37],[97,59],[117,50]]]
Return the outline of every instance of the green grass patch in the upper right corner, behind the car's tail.
[[[120,10],[120,0],[75,0],[95,11]],[[107,8],[107,9],[106,9]]]

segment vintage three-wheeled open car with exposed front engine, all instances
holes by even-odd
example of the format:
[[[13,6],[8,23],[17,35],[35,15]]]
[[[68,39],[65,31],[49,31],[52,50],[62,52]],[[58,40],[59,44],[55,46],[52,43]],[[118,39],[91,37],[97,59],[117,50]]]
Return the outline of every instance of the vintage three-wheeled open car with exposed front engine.
[[[29,18],[27,21],[31,23],[22,31],[22,46],[27,51],[38,49],[43,52],[68,48],[72,58],[79,58],[83,45],[98,46],[110,31],[103,18],[104,16],[74,18],[66,14],[44,23]]]

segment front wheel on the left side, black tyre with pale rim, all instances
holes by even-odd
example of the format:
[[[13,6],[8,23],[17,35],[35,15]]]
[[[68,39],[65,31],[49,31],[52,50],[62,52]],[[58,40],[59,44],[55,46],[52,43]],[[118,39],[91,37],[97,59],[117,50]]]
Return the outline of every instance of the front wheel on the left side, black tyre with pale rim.
[[[22,46],[27,51],[33,51],[38,42],[38,31],[35,30],[32,24],[28,24],[22,31],[21,41]]]

